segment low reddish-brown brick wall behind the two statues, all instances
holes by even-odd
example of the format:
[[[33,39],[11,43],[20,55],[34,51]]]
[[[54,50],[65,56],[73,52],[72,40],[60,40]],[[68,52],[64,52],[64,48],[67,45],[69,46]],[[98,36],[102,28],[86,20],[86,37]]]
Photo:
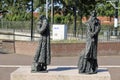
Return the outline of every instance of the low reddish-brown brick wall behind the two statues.
[[[7,44],[7,45],[6,45]],[[14,43],[13,43],[14,44]],[[5,50],[14,50],[12,43],[5,43]],[[33,56],[36,52],[38,42],[31,41],[16,41],[15,52],[16,54],[24,54]],[[52,56],[79,56],[85,48],[85,43],[52,43],[51,54]],[[14,51],[13,51],[14,52]],[[98,44],[99,56],[110,56],[120,54],[119,42],[105,42]]]

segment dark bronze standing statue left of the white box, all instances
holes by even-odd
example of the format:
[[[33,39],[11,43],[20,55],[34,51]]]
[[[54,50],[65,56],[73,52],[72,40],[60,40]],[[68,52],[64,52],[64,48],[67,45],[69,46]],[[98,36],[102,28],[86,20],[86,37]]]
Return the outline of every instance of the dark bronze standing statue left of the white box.
[[[51,61],[50,29],[48,20],[44,15],[40,16],[37,23],[37,30],[40,34],[40,40],[34,56],[31,72],[47,72],[47,65]]]

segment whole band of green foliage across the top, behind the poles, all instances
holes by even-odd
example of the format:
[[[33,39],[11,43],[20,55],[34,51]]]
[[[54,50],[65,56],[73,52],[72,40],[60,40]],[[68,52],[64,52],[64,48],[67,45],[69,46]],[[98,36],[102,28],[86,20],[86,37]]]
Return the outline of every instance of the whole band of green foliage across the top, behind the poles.
[[[10,21],[25,21],[31,19],[31,12],[27,13],[26,9],[28,3],[31,0],[0,0],[0,9],[7,10],[8,13],[4,14],[5,20]],[[40,8],[39,15],[45,14],[45,0],[33,0],[34,1],[34,9]],[[50,5],[50,0],[49,5]],[[114,8],[110,3],[107,3],[106,0],[54,0],[54,4],[61,4],[63,7],[61,8],[54,6],[54,22],[55,23],[73,23],[74,19],[74,10],[76,7],[76,11],[78,13],[77,20],[81,21],[81,17],[88,17],[90,12],[94,9],[97,10],[98,15],[101,16],[114,16]],[[49,18],[50,18],[50,7],[49,7]],[[59,14],[61,13],[61,14]],[[58,15],[59,14],[59,15]],[[78,19],[80,18],[80,19]]]

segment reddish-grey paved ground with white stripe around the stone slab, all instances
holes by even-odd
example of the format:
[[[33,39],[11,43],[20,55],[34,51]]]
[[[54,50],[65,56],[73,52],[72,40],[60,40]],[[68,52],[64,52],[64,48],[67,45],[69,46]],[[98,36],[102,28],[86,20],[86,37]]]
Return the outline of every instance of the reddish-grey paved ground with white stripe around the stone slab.
[[[52,57],[51,66],[76,66],[79,57]],[[20,66],[30,66],[33,57],[19,54],[0,54],[0,80],[10,80],[10,73]],[[99,56],[99,67],[108,68],[112,80],[120,79],[120,56]]]

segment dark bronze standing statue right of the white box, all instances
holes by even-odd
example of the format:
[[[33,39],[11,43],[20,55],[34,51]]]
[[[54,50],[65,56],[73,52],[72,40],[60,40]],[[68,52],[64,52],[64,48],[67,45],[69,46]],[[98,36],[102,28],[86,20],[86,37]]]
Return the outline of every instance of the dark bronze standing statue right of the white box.
[[[79,61],[79,73],[95,74],[97,73],[97,43],[98,33],[100,32],[100,20],[97,19],[96,11],[93,11],[87,25],[86,47],[83,50]]]

